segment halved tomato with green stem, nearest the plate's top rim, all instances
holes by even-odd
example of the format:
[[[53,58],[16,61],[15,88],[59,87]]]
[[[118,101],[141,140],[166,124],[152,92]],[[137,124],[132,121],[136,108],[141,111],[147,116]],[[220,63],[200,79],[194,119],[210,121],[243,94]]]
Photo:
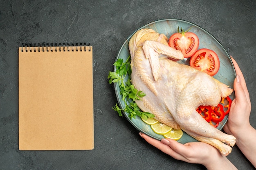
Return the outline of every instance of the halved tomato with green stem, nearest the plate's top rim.
[[[189,31],[189,30],[188,30]],[[171,35],[169,39],[169,46],[180,50],[184,58],[191,57],[198,50],[199,39],[198,36],[192,32],[184,31],[178,27],[178,33]]]

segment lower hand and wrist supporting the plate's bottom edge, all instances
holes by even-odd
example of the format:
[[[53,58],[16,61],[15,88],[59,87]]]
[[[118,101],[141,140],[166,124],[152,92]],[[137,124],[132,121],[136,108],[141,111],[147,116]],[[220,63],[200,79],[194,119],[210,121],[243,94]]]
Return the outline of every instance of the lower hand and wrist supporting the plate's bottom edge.
[[[227,157],[223,156],[216,148],[209,144],[203,142],[180,144],[173,139],[167,138],[159,141],[145,135],[144,133],[140,132],[139,134],[149,144],[155,146],[174,159],[188,163],[199,163],[206,166],[208,170],[218,169],[220,167],[227,170],[236,169]]]

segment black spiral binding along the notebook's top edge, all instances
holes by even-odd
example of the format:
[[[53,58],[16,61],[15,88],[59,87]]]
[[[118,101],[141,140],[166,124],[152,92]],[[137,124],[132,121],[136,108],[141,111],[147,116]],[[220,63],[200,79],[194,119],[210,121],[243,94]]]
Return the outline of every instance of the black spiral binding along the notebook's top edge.
[[[70,43],[67,43],[67,46],[66,46],[65,43],[63,43],[63,44],[59,43],[58,45],[57,45],[57,43],[54,43],[54,44],[53,43],[51,43],[51,44],[46,43],[46,45],[45,45],[45,43],[43,43],[42,45],[40,43],[38,43],[37,46],[36,46],[36,44],[34,44],[32,46],[31,43],[29,43],[29,44],[22,43],[21,52],[24,52],[24,51],[25,52],[28,52],[28,51],[32,52],[32,48],[33,48],[34,52],[36,52],[36,51],[40,52],[41,51],[40,47],[41,47],[43,52],[45,52],[45,50],[46,50],[46,52],[49,52],[49,51],[57,52],[57,51],[62,51],[62,50],[65,52],[66,51],[65,47],[67,47],[67,51],[70,51],[70,50],[71,51],[83,51],[83,50],[84,51],[87,51],[87,50],[91,51],[91,44],[90,43],[88,45],[86,43],[80,43],[80,44],[76,43],[75,46],[74,46],[74,43],[71,43],[71,46],[70,46]],[[71,49],[70,49],[70,47],[71,47]],[[86,47],[88,47],[88,49]],[[36,48],[37,48],[37,50],[36,50]]]

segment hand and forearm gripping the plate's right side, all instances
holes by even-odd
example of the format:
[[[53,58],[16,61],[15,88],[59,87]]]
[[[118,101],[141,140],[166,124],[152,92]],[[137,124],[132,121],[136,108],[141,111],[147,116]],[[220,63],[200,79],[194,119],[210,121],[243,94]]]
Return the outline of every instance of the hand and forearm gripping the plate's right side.
[[[224,131],[236,137],[236,145],[245,157],[256,167],[255,153],[256,130],[250,125],[251,101],[245,78],[236,61],[231,57],[236,70],[234,91],[236,98],[231,103],[229,118]]]

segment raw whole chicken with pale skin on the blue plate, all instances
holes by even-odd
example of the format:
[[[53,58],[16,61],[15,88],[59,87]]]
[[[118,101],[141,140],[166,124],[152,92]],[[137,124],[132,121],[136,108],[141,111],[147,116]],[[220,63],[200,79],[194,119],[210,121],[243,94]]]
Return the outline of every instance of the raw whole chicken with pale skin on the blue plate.
[[[184,57],[169,47],[167,40],[152,29],[141,29],[129,41],[131,81],[146,94],[136,101],[137,105],[142,111],[153,113],[159,122],[182,129],[228,155],[236,138],[211,126],[195,109],[218,105],[221,97],[229,96],[233,89],[204,72],[172,61],[170,58]]]

